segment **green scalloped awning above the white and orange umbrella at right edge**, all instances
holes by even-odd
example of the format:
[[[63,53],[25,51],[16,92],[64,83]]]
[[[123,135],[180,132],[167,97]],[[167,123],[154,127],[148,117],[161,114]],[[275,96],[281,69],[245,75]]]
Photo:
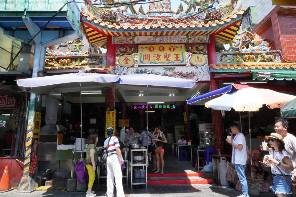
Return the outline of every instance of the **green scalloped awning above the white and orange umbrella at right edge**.
[[[251,71],[253,74],[253,80],[292,80],[296,79],[296,71],[294,70],[275,70],[275,71]]]

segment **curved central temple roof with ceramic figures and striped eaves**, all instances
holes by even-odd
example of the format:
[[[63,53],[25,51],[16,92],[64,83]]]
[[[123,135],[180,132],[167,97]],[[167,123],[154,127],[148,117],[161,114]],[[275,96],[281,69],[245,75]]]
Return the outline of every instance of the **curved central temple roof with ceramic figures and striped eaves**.
[[[85,0],[90,2],[89,0]],[[241,2],[230,0],[182,0],[177,10],[171,9],[176,0],[149,1],[149,10],[132,4],[108,8],[108,3],[132,3],[129,0],[106,0],[102,5],[82,4],[81,16],[85,33],[95,46],[104,46],[106,36],[206,35],[215,34],[217,42],[232,41],[245,10]],[[122,8],[122,9],[121,9]],[[225,28],[226,27],[226,28]]]

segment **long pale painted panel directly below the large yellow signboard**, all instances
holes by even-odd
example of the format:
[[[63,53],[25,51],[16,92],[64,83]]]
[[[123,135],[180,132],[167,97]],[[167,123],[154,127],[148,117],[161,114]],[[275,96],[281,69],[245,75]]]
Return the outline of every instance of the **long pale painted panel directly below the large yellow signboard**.
[[[183,78],[194,81],[210,80],[208,66],[116,67],[116,73],[118,74],[141,74],[147,72],[151,74]]]

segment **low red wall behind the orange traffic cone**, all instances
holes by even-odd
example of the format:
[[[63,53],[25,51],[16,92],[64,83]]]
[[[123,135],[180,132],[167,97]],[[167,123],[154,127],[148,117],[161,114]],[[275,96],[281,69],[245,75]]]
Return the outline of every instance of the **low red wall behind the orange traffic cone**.
[[[24,162],[25,158],[17,158]],[[18,162],[12,157],[0,157],[0,179],[2,178],[5,166],[9,166],[9,177],[11,187],[19,187],[19,183],[23,177],[24,164]]]

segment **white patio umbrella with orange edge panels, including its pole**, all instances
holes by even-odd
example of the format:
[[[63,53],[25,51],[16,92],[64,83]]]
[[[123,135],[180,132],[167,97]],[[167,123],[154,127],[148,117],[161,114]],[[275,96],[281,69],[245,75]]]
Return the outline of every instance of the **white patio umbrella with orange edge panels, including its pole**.
[[[279,108],[296,98],[290,94],[284,94],[269,89],[247,87],[241,90],[232,91],[222,94],[218,98],[214,98],[207,103],[205,107],[215,110],[230,111],[232,108],[235,111],[248,111],[249,116],[249,135],[250,135],[250,150],[251,144],[251,125],[250,111],[259,111],[265,104],[269,109]],[[252,165],[252,159],[251,159]],[[252,182],[254,182],[253,172],[251,172]]]

